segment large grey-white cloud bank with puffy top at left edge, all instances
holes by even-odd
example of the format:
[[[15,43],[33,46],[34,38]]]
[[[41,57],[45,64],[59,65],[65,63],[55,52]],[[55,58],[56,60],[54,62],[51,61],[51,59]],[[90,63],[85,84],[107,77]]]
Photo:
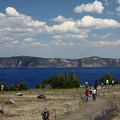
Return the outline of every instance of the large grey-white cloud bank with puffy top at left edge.
[[[33,36],[43,32],[45,22],[32,20],[30,16],[19,14],[14,8],[6,8],[6,14],[0,13],[0,38],[16,39]]]

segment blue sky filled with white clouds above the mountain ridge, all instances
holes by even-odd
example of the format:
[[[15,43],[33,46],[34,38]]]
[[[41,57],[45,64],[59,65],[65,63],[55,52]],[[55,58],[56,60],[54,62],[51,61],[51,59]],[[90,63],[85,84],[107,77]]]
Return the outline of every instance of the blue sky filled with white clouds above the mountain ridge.
[[[120,58],[120,0],[0,0],[0,57]]]

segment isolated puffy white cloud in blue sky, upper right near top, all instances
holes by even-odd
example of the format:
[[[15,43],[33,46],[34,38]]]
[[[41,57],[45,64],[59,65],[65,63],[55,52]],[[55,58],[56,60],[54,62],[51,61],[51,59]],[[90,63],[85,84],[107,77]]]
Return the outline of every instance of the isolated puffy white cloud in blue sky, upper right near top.
[[[93,3],[88,4],[82,4],[80,6],[75,7],[74,11],[76,13],[82,13],[82,12],[94,12],[101,14],[103,13],[104,7],[101,2],[95,1]]]

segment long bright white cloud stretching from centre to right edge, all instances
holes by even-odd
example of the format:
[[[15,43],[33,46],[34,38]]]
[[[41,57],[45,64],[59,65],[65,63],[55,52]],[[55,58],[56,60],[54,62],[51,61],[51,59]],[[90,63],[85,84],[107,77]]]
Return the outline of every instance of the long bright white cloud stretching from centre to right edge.
[[[80,20],[66,21],[58,25],[46,28],[46,32],[54,34],[63,33],[88,33],[94,29],[119,28],[120,23],[113,19],[94,18],[92,16],[84,16]]]

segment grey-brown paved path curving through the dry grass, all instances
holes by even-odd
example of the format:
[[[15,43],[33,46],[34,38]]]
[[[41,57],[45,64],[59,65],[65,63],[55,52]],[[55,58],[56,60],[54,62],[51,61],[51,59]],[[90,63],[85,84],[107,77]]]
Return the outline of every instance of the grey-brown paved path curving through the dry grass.
[[[82,109],[59,120],[103,120],[103,117],[115,108],[116,105],[111,101],[97,98],[96,102],[94,102],[92,97],[89,97],[89,101]]]

